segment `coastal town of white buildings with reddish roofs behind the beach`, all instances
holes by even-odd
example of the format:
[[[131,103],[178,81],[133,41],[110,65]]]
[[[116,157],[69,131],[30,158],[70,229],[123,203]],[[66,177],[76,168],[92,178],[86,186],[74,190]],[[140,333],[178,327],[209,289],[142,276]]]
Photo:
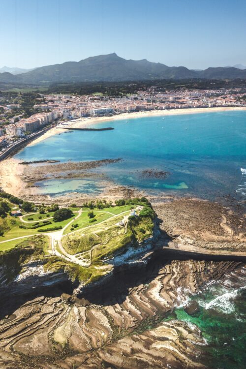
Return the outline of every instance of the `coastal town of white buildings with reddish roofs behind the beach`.
[[[112,117],[124,113],[246,107],[246,90],[174,90],[159,92],[155,86],[134,94],[108,97],[91,95],[37,93],[29,117],[23,118],[16,95],[0,97],[0,154],[46,132],[50,127],[86,118]],[[119,117],[121,118],[121,117]],[[5,155],[4,155],[5,156]]]

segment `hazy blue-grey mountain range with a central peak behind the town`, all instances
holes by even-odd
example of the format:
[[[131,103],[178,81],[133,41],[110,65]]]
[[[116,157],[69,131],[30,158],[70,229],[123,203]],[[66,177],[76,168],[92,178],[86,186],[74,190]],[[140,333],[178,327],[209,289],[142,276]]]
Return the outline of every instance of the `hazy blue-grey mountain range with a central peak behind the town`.
[[[99,55],[80,62],[47,65],[14,75],[0,73],[0,82],[47,84],[51,82],[136,81],[155,79],[246,79],[246,69],[210,67],[205,70],[167,66],[143,60],[125,60],[117,54]]]

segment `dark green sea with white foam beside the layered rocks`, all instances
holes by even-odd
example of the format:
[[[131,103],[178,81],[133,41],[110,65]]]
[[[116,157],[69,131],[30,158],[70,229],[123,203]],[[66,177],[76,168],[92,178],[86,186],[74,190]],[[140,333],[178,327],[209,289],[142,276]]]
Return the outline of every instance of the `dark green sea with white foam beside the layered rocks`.
[[[207,345],[201,347],[203,364],[216,369],[246,367],[246,289],[213,286],[192,296],[200,310],[193,316],[177,308],[165,321],[178,319],[196,325]],[[205,359],[204,359],[205,358]]]

